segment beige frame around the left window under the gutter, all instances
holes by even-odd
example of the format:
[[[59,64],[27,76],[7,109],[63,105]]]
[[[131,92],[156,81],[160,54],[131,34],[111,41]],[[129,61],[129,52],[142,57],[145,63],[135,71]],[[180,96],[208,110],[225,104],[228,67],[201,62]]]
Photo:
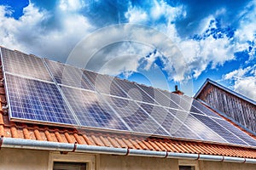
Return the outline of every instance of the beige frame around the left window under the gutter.
[[[48,170],[53,170],[55,161],[86,163],[86,170],[96,170],[95,155],[71,152],[65,155],[60,152],[49,152]]]

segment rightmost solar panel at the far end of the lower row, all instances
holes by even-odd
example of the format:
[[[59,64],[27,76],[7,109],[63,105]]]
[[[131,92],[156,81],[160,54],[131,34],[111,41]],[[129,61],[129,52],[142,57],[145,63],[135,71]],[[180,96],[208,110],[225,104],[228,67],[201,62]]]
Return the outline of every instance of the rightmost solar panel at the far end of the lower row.
[[[247,133],[242,132],[239,128],[232,125],[230,122],[227,122],[223,119],[212,118],[213,121],[218,122],[221,126],[228,129],[231,133],[236,134],[240,139],[245,141],[251,146],[256,146],[256,140],[247,135]]]

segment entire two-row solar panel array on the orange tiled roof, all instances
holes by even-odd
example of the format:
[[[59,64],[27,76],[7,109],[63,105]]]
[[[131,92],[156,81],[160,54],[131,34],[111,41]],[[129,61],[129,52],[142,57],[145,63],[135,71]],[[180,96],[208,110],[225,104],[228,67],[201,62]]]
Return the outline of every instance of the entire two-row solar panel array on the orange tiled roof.
[[[256,146],[195,99],[1,48],[11,121]]]

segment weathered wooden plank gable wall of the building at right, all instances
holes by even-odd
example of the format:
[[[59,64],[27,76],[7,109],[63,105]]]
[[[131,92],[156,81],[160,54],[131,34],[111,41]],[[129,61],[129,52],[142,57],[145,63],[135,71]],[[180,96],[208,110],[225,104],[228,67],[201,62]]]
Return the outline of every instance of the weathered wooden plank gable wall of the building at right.
[[[210,83],[207,83],[196,99],[203,100],[256,133],[256,105]]]

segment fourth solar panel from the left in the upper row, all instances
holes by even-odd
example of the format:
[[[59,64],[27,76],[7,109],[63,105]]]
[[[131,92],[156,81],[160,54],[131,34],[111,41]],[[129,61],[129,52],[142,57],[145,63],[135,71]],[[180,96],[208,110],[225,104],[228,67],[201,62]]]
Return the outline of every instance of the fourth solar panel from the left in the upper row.
[[[118,78],[113,78],[113,82],[118,84],[120,88],[122,88],[126,94],[129,94],[131,99],[135,99],[137,101],[143,101],[146,103],[154,103],[154,99],[150,98],[148,94],[145,94],[143,90],[137,87],[137,85],[133,82],[128,82],[125,80],[120,80]]]

